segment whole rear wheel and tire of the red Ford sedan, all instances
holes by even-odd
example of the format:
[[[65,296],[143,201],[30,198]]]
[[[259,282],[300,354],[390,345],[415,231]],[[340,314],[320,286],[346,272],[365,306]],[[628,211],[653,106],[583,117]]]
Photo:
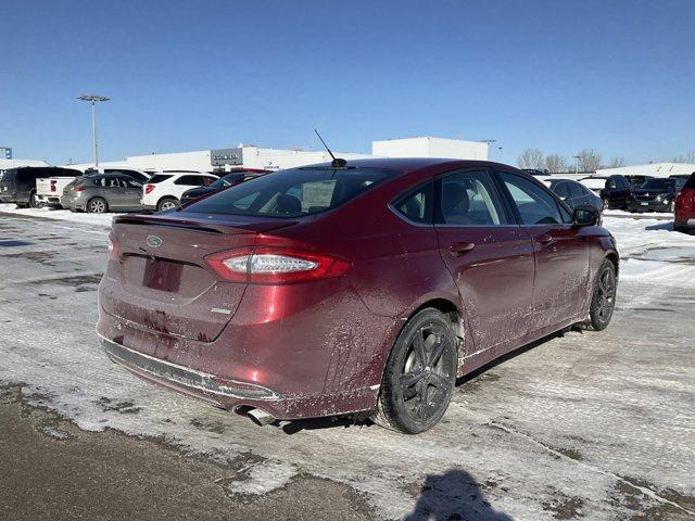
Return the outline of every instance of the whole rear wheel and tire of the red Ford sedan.
[[[375,422],[405,434],[434,427],[451,402],[458,365],[451,321],[426,308],[399,334],[387,360]]]

